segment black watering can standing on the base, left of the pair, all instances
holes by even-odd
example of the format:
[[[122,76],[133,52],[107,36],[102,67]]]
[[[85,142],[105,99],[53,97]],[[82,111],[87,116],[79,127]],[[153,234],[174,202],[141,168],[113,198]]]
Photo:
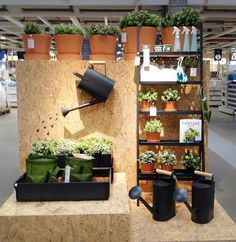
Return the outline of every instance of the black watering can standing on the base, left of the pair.
[[[159,169],[156,172],[157,179],[153,181],[153,207],[141,197],[142,189],[139,186],[130,189],[129,197],[131,199],[139,199],[152,213],[154,220],[167,221],[175,216],[176,208],[173,198],[175,180],[171,172]]]

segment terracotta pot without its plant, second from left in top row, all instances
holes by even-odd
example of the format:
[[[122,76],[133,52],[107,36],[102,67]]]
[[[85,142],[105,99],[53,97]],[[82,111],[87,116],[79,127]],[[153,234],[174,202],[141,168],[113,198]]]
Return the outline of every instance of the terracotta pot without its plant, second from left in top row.
[[[83,37],[73,34],[58,34],[55,36],[58,59],[80,60]],[[72,56],[70,56],[72,54]]]

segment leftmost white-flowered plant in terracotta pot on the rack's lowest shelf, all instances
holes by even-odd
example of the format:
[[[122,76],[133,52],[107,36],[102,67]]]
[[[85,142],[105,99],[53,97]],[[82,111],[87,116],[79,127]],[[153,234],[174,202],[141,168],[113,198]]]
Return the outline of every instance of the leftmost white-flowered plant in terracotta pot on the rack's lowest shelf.
[[[140,153],[139,161],[141,164],[142,173],[152,173],[154,170],[155,162],[157,161],[157,154],[152,150],[145,150],[145,152]]]

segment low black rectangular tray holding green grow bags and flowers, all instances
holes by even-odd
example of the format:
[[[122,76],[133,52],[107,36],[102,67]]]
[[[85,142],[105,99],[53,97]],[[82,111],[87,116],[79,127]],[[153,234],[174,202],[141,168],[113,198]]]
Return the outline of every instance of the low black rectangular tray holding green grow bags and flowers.
[[[110,195],[110,169],[95,169],[93,176],[109,177],[109,182],[26,183],[21,176],[15,183],[17,201],[107,200]]]

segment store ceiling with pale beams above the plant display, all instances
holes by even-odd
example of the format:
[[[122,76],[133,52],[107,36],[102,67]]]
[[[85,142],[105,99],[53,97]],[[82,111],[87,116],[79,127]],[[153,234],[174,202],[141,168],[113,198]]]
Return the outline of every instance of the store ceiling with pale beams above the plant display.
[[[59,22],[85,26],[103,23],[107,17],[109,23],[115,25],[121,16],[137,6],[161,16],[170,6],[170,1],[185,1],[188,6],[199,10],[204,20],[206,50],[236,45],[235,0],[0,0],[0,47],[21,49],[26,21],[51,29]]]

